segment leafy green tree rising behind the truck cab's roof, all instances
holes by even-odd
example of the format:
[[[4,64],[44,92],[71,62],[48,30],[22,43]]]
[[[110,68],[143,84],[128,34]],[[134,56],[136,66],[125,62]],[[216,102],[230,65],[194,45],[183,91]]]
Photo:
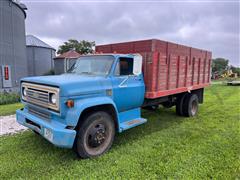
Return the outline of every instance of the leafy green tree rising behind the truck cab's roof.
[[[57,53],[62,54],[70,50],[75,50],[80,54],[88,54],[93,52],[95,42],[90,41],[78,41],[75,39],[69,39],[68,42],[64,42],[63,45],[59,46]]]

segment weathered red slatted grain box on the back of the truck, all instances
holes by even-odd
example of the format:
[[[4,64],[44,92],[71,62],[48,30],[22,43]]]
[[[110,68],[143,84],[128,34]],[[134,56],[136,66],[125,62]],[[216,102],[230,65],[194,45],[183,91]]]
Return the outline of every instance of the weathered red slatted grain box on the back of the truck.
[[[98,53],[140,53],[145,98],[154,99],[210,84],[212,53],[157,39],[96,46]]]

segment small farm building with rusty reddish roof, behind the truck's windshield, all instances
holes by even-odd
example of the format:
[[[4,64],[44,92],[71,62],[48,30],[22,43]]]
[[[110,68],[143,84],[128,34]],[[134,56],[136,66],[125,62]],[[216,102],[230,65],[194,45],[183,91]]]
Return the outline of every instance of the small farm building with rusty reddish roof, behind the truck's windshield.
[[[54,58],[55,74],[63,74],[67,72],[79,57],[80,54],[78,52],[70,50]]]

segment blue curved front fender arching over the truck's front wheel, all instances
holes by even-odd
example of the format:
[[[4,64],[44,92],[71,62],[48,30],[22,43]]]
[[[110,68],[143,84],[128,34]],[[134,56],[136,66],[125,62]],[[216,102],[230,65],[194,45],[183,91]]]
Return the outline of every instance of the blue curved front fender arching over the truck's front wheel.
[[[74,99],[74,107],[69,108],[66,113],[66,122],[69,126],[76,126],[79,120],[81,113],[93,106],[111,104],[115,111],[117,112],[117,108],[113,100],[109,97],[94,97],[94,98],[86,98],[86,99]]]

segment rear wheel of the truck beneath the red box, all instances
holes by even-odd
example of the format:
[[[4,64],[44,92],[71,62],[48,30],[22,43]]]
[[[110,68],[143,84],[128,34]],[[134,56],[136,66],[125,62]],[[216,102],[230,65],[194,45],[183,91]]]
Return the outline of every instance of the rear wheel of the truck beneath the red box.
[[[183,100],[183,115],[186,117],[196,116],[198,113],[198,96],[196,94],[187,94]]]

